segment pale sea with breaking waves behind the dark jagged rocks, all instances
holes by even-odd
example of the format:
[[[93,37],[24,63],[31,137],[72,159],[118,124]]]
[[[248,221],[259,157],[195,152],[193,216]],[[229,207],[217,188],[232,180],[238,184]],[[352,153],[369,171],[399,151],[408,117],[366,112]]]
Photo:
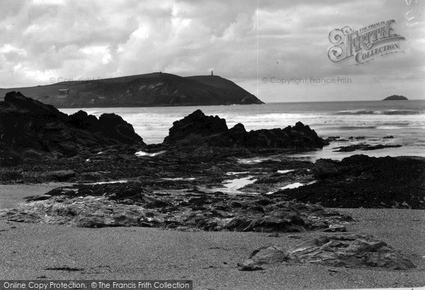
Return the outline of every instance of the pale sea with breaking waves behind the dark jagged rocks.
[[[364,137],[331,143],[322,150],[296,155],[308,160],[341,160],[353,154],[369,156],[425,156],[425,100],[410,101],[332,101],[270,103],[232,106],[173,106],[145,108],[62,108],[67,114],[84,110],[95,116],[116,113],[132,124],[145,143],[162,143],[173,122],[196,109],[225,118],[231,128],[237,123],[246,130],[285,128],[301,121],[322,137]],[[394,138],[383,138],[392,135]],[[397,144],[402,147],[381,150],[334,152],[336,147],[355,143]]]

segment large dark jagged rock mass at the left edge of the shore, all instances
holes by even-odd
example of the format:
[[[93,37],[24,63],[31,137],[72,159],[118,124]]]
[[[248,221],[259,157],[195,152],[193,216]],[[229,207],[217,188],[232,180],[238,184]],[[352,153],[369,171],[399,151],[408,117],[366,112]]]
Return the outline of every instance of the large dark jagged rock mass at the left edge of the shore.
[[[115,114],[103,114],[97,119],[79,111],[67,116],[15,91],[4,99],[0,102],[1,164],[21,162],[13,156],[28,150],[71,157],[91,147],[145,145],[132,126]]]

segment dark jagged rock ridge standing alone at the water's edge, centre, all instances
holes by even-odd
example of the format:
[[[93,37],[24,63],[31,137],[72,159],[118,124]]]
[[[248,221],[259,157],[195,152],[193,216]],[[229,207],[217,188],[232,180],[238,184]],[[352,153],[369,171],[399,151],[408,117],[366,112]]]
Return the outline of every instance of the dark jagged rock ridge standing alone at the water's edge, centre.
[[[164,144],[175,146],[208,145],[215,147],[317,148],[326,143],[309,126],[295,126],[246,132],[242,124],[228,129],[225,119],[194,111],[173,123]]]

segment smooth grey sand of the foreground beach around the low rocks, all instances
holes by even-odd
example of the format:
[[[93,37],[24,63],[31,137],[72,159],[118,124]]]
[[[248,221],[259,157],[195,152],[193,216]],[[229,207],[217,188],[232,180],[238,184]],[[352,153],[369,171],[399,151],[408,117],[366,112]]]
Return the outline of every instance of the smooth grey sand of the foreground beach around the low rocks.
[[[1,185],[2,208],[57,184]],[[266,265],[240,272],[267,243],[291,247],[325,233],[181,232],[156,228],[72,228],[0,221],[1,279],[191,279],[194,289],[351,289],[425,285],[425,211],[337,209],[356,219],[348,232],[374,235],[402,251],[416,269]],[[288,238],[296,236],[297,238]],[[61,269],[62,268],[62,269]],[[63,270],[67,268],[68,270]]]

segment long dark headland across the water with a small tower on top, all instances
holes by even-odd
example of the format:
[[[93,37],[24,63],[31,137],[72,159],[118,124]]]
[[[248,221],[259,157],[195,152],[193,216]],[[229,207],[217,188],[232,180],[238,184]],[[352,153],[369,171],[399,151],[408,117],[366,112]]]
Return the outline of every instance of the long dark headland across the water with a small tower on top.
[[[60,91],[66,89],[69,90]],[[161,72],[0,89],[0,94],[13,90],[57,108],[263,104],[253,94],[222,77],[179,77]]]

